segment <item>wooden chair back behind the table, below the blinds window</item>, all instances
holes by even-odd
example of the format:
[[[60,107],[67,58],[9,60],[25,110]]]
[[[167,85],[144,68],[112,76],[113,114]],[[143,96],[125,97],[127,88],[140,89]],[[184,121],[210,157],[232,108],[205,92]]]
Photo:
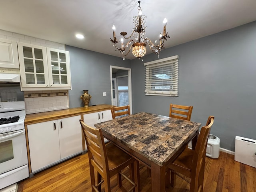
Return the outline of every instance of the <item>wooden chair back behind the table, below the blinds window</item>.
[[[169,117],[190,121],[193,106],[170,104]]]

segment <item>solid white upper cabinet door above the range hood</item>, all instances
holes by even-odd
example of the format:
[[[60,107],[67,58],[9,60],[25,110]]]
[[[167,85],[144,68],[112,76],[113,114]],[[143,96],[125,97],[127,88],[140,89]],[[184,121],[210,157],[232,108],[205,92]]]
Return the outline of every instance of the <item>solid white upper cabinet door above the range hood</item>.
[[[0,39],[0,67],[20,68],[16,41]]]

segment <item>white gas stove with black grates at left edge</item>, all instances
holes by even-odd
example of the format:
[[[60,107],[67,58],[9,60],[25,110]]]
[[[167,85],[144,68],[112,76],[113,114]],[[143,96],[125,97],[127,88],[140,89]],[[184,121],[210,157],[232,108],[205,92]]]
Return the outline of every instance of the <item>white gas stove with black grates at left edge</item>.
[[[0,102],[0,189],[28,177],[25,102]]]

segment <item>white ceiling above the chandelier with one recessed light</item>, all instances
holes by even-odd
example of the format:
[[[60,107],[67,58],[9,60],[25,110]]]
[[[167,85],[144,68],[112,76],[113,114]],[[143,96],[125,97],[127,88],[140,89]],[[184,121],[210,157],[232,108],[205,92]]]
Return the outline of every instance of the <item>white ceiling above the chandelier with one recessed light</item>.
[[[137,0],[2,0],[0,29],[122,57],[110,42],[112,25],[117,38],[122,31],[130,35],[137,7]],[[152,41],[167,18],[171,38],[165,48],[256,20],[256,0],[141,0],[140,7]],[[84,39],[76,39],[76,33]]]

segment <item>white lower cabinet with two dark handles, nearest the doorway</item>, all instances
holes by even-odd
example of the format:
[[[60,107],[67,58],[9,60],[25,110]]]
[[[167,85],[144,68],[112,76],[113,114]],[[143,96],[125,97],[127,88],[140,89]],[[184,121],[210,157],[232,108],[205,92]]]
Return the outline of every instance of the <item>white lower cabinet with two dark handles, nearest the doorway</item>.
[[[112,114],[111,114],[111,110],[104,110],[100,112],[84,114],[83,118],[84,118],[84,122],[87,125],[95,128],[94,124],[111,120]],[[104,138],[104,141],[107,142],[108,140]]]

